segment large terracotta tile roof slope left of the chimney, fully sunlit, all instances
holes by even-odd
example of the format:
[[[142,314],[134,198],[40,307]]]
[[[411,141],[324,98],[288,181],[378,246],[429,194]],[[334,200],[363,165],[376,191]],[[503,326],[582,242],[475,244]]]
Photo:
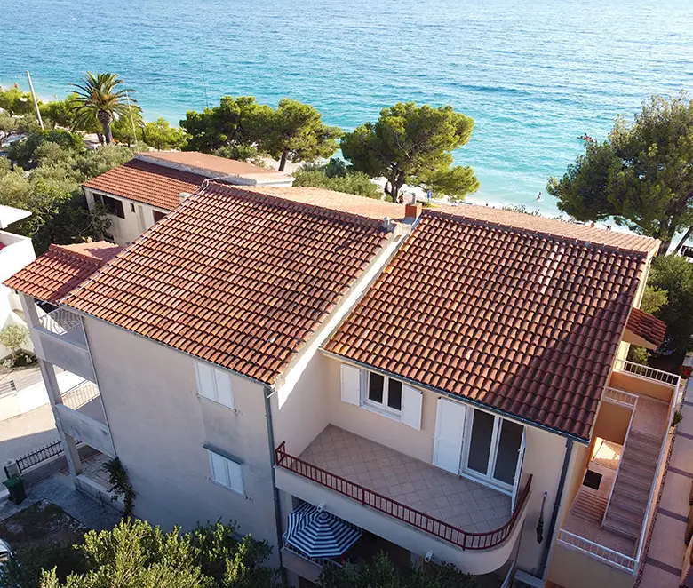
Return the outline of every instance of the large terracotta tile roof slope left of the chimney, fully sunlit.
[[[378,220],[211,183],[61,302],[272,384],[386,241]]]

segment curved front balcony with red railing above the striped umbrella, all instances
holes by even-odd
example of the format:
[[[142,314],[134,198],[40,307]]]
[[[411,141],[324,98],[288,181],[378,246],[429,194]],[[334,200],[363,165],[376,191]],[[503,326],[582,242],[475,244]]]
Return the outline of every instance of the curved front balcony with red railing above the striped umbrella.
[[[334,425],[299,457],[284,443],[275,453],[280,489],[315,505],[325,502],[342,519],[412,552],[433,552],[473,574],[506,562],[530,495],[531,477],[511,513],[510,497],[497,490]],[[475,552],[487,557],[474,558]]]

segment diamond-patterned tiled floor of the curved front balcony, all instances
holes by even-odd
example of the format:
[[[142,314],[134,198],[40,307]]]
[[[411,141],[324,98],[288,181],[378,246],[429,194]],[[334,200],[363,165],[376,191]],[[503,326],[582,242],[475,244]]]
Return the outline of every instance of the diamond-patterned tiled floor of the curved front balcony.
[[[510,519],[505,494],[334,425],[299,457],[470,533],[500,528]]]

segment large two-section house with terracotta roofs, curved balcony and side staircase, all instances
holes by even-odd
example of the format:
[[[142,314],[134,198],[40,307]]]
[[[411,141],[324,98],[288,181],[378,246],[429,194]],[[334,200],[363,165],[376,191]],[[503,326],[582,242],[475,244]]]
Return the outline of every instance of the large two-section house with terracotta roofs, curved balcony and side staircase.
[[[98,391],[98,425],[52,395],[68,449],[120,457],[140,517],[237,520],[291,585],[385,549],[499,582],[632,586],[679,401],[677,376],[625,360],[664,336],[637,309],[657,248],[211,181],[66,285],[57,328],[31,311],[43,258],[6,284],[47,380],[82,369]],[[345,552],[299,541],[307,516]]]

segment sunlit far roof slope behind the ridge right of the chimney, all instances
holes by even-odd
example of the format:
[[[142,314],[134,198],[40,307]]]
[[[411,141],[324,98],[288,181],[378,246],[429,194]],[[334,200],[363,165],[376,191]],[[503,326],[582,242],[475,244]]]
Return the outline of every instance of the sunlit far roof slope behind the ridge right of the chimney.
[[[623,250],[642,251],[654,255],[659,249],[659,241],[640,234],[607,231],[588,225],[567,222],[557,219],[536,217],[522,212],[504,211],[490,206],[474,206],[460,204],[459,206],[439,206],[433,210],[446,212],[466,219],[475,219],[491,225],[509,226],[542,234],[553,234],[557,237],[593,242]]]

